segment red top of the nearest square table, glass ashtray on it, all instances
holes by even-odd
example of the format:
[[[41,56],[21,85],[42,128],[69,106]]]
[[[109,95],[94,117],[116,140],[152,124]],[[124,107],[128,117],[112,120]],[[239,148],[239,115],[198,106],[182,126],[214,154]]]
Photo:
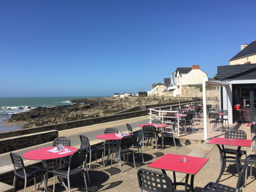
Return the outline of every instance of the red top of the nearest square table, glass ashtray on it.
[[[186,157],[189,161],[186,163],[181,163],[179,161],[180,157]],[[201,157],[166,154],[163,157],[160,157],[158,160],[155,160],[153,163],[150,163],[148,167],[195,175],[208,160],[209,159],[207,158]]]

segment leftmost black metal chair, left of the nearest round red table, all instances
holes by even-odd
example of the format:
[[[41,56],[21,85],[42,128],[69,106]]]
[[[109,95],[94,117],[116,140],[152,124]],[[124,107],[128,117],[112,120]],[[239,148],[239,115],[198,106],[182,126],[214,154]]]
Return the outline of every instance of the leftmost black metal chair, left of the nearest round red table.
[[[39,167],[34,167],[34,166],[25,169],[23,160],[20,157],[20,155],[10,152],[10,156],[11,156],[11,160],[12,160],[12,165],[14,167],[13,186],[15,186],[16,177],[23,178],[25,180],[24,192],[26,192],[27,180],[34,177],[35,190],[36,190],[36,176],[44,175],[45,191],[47,192],[47,182],[46,182],[46,177],[45,177],[46,171],[44,169],[41,169]],[[17,172],[16,167],[23,169],[23,170]],[[1,191],[1,189],[0,189],[0,191]]]

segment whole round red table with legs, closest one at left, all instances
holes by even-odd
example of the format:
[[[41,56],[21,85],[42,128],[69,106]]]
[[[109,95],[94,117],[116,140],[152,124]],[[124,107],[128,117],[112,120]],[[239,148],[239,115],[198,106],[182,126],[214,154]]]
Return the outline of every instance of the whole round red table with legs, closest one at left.
[[[67,148],[69,152],[67,151],[61,151],[61,152],[57,152],[57,153],[53,153],[50,152],[48,150],[54,149],[55,147],[44,147],[44,148],[38,148],[38,149],[34,149],[32,151],[28,151],[26,153],[23,154],[23,158],[25,159],[29,159],[29,160],[41,160],[42,164],[43,164],[43,169],[46,170],[46,183],[48,181],[48,177],[49,177],[49,168],[47,166],[47,160],[50,159],[60,159],[59,161],[59,169],[61,168],[61,161],[63,157],[67,157],[72,155],[75,151],[77,151],[76,147],[70,147],[70,146],[65,146],[65,148]],[[44,180],[44,177],[42,177],[38,187],[41,186],[42,182]],[[63,186],[67,188],[67,186],[65,185],[64,181],[62,178],[59,178],[60,182],[63,184]],[[47,184],[46,184],[47,186]],[[38,189],[37,187],[37,189]]]

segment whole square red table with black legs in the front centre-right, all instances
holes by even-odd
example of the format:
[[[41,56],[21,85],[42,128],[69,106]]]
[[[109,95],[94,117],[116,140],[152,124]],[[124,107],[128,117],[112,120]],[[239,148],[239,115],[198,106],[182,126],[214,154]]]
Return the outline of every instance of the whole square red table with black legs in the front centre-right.
[[[186,158],[187,162],[180,162],[180,158]],[[204,166],[208,161],[207,158],[201,157],[191,157],[178,154],[166,154],[163,157],[155,160],[153,163],[150,163],[148,167],[161,169],[163,174],[166,174],[166,170],[173,172],[173,186],[176,189],[176,186],[185,186],[185,190],[180,190],[179,192],[194,192],[194,176],[198,171]],[[175,172],[186,173],[185,183],[176,182]],[[190,177],[190,184],[188,184]]]

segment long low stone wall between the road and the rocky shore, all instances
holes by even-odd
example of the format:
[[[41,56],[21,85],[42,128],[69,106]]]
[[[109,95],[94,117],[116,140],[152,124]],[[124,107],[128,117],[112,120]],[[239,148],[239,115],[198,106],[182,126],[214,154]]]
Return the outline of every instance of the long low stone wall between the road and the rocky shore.
[[[111,122],[111,121],[117,121],[122,119],[130,119],[133,117],[138,116],[145,116],[148,115],[148,111],[136,111],[131,113],[123,113],[123,114],[116,114],[116,115],[108,115],[108,116],[101,116],[96,118],[90,118],[90,119],[83,119],[78,121],[70,121],[70,122],[64,122],[64,123],[57,123],[53,125],[44,125],[40,127],[35,128],[27,128],[27,129],[20,129],[20,130],[14,130],[14,131],[5,131],[0,133],[0,139],[8,138],[8,137],[16,137],[26,134],[34,134],[39,133],[42,131],[52,131],[52,130],[66,130],[66,129],[72,129],[72,128],[78,128],[78,127],[84,127],[88,125],[95,125],[99,123],[105,123],[105,122]]]

